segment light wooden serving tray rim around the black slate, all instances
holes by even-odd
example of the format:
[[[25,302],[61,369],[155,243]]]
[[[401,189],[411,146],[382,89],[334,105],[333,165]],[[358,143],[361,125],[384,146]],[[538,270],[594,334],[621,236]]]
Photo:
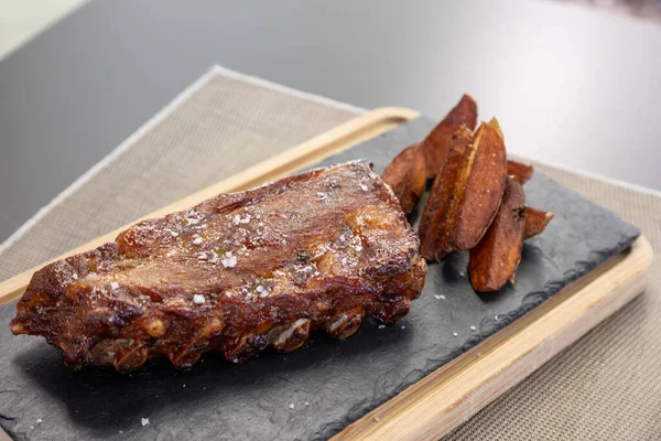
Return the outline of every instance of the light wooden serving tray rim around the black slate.
[[[291,174],[418,116],[416,111],[405,108],[376,109],[144,218],[189,207],[221,192],[249,189]],[[128,225],[54,260],[113,240]],[[651,246],[640,237],[627,251],[602,263],[522,319],[355,421],[334,439],[432,440],[449,432],[642,292],[651,261]],[[20,297],[36,269],[1,282],[0,302]]]

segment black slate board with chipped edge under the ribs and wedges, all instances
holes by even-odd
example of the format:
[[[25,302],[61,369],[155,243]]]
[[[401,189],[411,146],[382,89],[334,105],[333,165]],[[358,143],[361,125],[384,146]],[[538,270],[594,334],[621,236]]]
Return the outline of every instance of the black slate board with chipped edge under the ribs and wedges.
[[[368,158],[380,173],[433,125],[416,119],[322,164]],[[524,246],[516,287],[476,294],[467,256],[456,254],[430,265],[425,290],[401,322],[384,329],[367,322],[345,342],[314,335],[285,356],[267,351],[234,365],[209,354],[186,373],[163,361],[132,375],[73,373],[42,338],[11,335],[15,303],[2,305],[0,426],[29,440],[329,438],[619,254],[639,234],[540,172],[525,193],[530,205],[554,211],[555,218]]]

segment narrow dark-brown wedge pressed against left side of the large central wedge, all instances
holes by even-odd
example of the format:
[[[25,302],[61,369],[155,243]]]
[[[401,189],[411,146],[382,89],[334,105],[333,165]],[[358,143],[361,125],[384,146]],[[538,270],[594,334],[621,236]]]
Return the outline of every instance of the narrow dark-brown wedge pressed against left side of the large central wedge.
[[[458,203],[456,197],[462,181],[464,165],[470,152],[473,133],[466,127],[460,128],[453,137],[447,161],[434,180],[430,197],[424,206],[420,220],[420,252],[429,260],[441,260],[453,250],[451,235],[452,222],[456,218]]]

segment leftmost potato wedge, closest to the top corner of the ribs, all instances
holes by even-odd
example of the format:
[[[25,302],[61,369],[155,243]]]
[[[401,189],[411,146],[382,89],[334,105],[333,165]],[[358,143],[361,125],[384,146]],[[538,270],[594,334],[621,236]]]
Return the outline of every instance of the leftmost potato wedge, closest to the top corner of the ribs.
[[[402,150],[381,175],[407,214],[415,208],[418,201],[424,194],[425,173],[425,154],[416,142]]]

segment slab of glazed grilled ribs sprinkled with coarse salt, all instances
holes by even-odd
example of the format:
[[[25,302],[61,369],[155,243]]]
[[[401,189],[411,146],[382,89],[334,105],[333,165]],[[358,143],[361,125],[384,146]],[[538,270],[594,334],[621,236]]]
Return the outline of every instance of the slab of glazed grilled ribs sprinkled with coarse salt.
[[[220,194],[51,263],[11,330],[45,336],[73,368],[129,372],[156,356],[187,368],[207,351],[239,362],[405,315],[426,273],[418,249],[391,190],[349,162]]]

